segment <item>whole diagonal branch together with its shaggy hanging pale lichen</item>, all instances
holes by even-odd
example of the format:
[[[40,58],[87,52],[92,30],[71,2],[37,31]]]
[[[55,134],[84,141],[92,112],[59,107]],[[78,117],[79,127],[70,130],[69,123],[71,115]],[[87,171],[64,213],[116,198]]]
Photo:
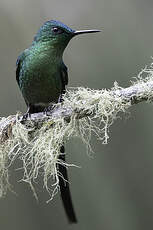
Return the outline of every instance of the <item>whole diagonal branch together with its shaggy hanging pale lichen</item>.
[[[61,145],[77,136],[90,148],[92,133],[107,144],[109,128],[120,113],[134,104],[153,99],[152,66],[141,71],[128,88],[121,88],[116,82],[109,90],[73,88],[63,99],[47,113],[32,114],[26,120],[20,113],[1,118],[0,196],[4,196],[9,187],[8,168],[20,159],[22,180],[30,184],[36,196],[33,182],[43,174],[44,186],[52,199],[58,191],[56,164],[63,164],[59,161]],[[55,183],[50,185],[50,178]]]

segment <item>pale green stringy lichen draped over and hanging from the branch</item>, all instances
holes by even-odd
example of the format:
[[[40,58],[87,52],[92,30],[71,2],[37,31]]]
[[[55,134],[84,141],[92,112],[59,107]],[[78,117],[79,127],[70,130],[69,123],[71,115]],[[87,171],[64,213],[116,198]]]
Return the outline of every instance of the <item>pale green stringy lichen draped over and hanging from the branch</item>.
[[[146,81],[141,78],[137,84],[140,82],[142,84]],[[131,105],[131,101],[114,93],[114,91],[120,90],[122,88],[115,83],[111,90],[91,90],[81,87],[67,91],[62,107],[69,107],[73,111],[69,121],[66,121],[62,116],[55,117],[52,120],[44,121],[38,128],[34,121],[22,124],[17,115],[9,138],[1,141],[0,196],[5,195],[9,185],[8,168],[16,159],[20,159],[23,169],[22,180],[30,184],[35,197],[37,195],[34,182],[41,176],[44,187],[52,199],[59,190],[56,165],[57,163],[63,164],[58,159],[60,147],[70,138],[79,137],[90,150],[92,133],[96,134],[103,144],[107,144],[109,127],[118,118],[119,113],[125,112]],[[151,89],[147,90],[150,90],[151,95]],[[84,116],[84,114],[88,114],[88,116]],[[1,119],[0,125],[2,122],[4,122],[4,118]],[[3,135],[2,128],[1,140],[3,140]],[[65,166],[67,167],[69,164],[65,163]],[[53,180],[53,183],[50,179]]]

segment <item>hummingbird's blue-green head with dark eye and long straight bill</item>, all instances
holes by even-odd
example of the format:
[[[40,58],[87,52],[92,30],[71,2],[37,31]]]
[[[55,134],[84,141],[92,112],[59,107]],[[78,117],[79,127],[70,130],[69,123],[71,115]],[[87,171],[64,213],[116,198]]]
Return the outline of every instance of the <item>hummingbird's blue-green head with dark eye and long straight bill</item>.
[[[66,48],[69,41],[76,35],[96,33],[100,30],[73,30],[62,22],[51,20],[45,22],[34,37],[34,42],[50,42],[53,47]]]

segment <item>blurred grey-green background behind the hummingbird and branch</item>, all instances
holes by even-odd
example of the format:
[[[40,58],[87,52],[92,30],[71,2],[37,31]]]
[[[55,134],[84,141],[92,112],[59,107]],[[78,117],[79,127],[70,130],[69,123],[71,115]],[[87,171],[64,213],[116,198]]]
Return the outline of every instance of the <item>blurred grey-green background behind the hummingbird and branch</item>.
[[[26,111],[15,81],[16,58],[46,20],[102,33],[73,39],[64,61],[69,86],[127,87],[153,55],[151,0],[0,0],[1,116]],[[153,105],[138,104],[129,118],[116,121],[108,145],[92,139],[93,157],[78,139],[67,146],[69,177],[77,225],[68,225],[59,194],[49,204],[40,187],[39,203],[22,174],[10,172],[14,193],[0,200],[3,230],[149,230],[153,229]],[[17,167],[17,166],[16,166]]]

